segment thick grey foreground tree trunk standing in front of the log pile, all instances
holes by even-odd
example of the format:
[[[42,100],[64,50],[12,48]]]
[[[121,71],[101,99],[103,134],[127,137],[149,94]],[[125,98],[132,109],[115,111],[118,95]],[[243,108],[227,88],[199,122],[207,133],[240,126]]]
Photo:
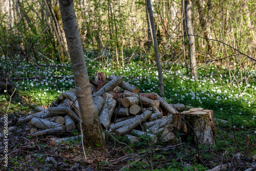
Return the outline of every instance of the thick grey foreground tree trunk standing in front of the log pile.
[[[85,142],[89,146],[96,146],[96,144],[104,146],[101,134],[102,130],[93,103],[86,61],[84,60],[82,44],[76,23],[74,3],[72,0],[60,0],[59,6],[74,73],[76,97],[79,104],[82,129],[84,133],[86,133],[84,135]]]

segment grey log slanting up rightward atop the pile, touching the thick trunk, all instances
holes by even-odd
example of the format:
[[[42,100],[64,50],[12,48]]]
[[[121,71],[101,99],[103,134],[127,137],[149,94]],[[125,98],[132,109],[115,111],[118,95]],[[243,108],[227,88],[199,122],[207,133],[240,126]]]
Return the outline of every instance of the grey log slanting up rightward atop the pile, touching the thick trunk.
[[[120,76],[116,76],[114,79],[112,79],[109,83],[106,83],[105,86],[103,86],[99,91],[93,94],[93,98],[97,96],[102,96],[104,92],[110,92],[115,87],[118,86],[122,82],[122,78]]]

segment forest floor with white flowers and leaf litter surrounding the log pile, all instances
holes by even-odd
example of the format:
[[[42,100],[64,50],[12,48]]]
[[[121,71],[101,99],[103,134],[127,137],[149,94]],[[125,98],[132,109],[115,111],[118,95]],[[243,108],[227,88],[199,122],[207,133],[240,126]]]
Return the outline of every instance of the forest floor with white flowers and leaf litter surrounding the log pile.
[[[89,62],[88,71],[92,73],[91,78],[98,71],[106,75],[120,75],[142,92],[158,93],[156,65],[150,62],[135,60],[121,69],[116,69],[111,63],[103,66],[101,63],[90,65]],[[14,64],[13,71],[16,72],[12,72],[10,77],[19,78],[13,80],[17,90],[13,96],[14,90],[0,94],[0,111],[3,111],[0,117],[8,114],[9,121],[13,121],[11,126],[16,126],[15,131],[8,135],[7,170],[207,170],[225,163],[231,166],[228,170],[256,167],[255,70],[241,71],[244,77],[250,76],[248,81],[239,76],[230,76],[225,67],[217,65],[199,70],[199,81],[184,74],[182,63],[176,63],[172,71],[168,68],[163,70],[168,103],[211,109],[214,117],[228,121],[216,122],[215,145],[199,145],[197,148],[191,141],[193,137],[183,139],[182,136],[179,142],[158,141],[153,145],[140,137],[137,143],[124,145],[108,137],[105,149],[84,147],[85,159],[80,139],[61,143],[51,139],[68,137],[70,133],[31,138],[25,131],[27,123],[15,123],[15,119],[34,113],[37,105],[47,107],[62,92],[74,87],[70,65],[42,67],[55,77],[25,62],[19,66]],[[235,67],[232,72],[237,72]],[[2,132],[4,123],[0,126]],[[2,136],[0,152],[4,154]],[[117,139],[126,142],[123,138]],[[179,143],[183,144],[170,147]],[[164,147],[168,149],[163,150]],[[4,168],[4,161],[0,159],[1,168]]]

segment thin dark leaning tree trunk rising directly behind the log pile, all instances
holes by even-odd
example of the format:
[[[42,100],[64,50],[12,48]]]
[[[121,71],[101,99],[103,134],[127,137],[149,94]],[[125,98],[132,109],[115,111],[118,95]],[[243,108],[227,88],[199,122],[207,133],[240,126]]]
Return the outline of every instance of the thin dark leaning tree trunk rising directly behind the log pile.
[[[162,74],[161,62],[158,54],[157,34],[156,34],[154,15],[153,15],[152,6],[151,6],[151,0],[146,0],[146,7],[148,10],[148,14],[150,15],[151,29],[153,34],[155,58],[156,58],[157,70],[158,70],[158,87],[159,87],[160,96],[164,97],[163,74]]]

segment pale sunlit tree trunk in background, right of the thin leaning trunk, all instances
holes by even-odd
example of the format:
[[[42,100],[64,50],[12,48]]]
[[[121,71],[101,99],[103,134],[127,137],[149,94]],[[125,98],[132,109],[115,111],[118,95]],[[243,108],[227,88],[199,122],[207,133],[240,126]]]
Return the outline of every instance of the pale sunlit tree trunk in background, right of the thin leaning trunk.
[[[188,56],[190,60],[191,75],[194,76],[195,80],[198,80],[195,37],[192,36],[194,34],[193,26],[192,26],[192,2],[190,0],[185,0],[185,20],[186,20],[186,30],[188,34],[188,46],[189,46]]]

